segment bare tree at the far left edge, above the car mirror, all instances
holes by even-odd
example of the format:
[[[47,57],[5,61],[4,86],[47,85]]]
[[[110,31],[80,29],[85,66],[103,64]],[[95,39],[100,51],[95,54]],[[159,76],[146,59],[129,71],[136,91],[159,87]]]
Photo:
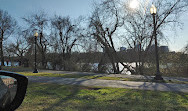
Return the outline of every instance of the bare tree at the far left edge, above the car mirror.
[[[8,14],[7,11],[0,9],[0,56],[1,66],[4,66],[3,41],[6,40],[16,27],[16,21]]]

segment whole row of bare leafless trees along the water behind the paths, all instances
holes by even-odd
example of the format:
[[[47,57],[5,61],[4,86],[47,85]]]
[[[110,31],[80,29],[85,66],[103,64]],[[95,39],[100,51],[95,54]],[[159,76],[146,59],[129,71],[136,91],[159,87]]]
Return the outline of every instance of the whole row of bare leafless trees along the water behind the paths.
[[[179,18],[188,3],[186,0],[157,0],[153,4],[157,7],[157,36],[159,42],[165,41],[168,35],[164,30],[178,28]],[[151,3],[143,1],[138,9],[131,9],[129,0],[102,0],[93,4],[93,11],[87,17],[74,20],[62,15],[49,17],[41,11],[23,17],[24,27],[20,27],[7,11],[0,10],[1,66],[4,66],[4,58],[14,57],[20,66],[33,66],[33,34],[37,31],[37,63],[41,68],[47,68],[50,62],[53,69],[58,66],[63,70],[76,70],[78,63],[87,67],[97,61],[99,72],[104,72],[105,65],[110,63],[112,73],[121,73],[119,65],[122,65],[132,74],[144,74],[146,65],[154,64],[149,59],[154,56],[150,52],[154,44],[150,6]],[[13,38],[12,42],[9,37]],[[120,45],[132,49],[132,55],[120,53]],[[182,53],[187,57],[186,51]],[[125,63],[131,57],[136,59],[136,67]]]

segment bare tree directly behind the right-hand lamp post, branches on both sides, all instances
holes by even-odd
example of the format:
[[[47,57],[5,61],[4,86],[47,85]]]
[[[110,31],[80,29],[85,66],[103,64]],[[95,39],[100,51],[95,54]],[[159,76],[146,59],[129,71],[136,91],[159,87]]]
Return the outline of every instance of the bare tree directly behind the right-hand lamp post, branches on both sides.
[[[159,41],[166,40],[164,30],[171,26],[178,26],[179,17],[186,10],[188,4],[184,0],[157,0],[153,4],[157,7],[156,30]],[[128,4],[125,5],[125,40],[129,47],[135,50],[138,60],[138,72],[143,74],[143,66],[146,62],[146,56],[154,43],[152,17],[149,12],[151,4],[140,2],[139,10],[132,11]],[[137,68],[136,68],[137,69]]]

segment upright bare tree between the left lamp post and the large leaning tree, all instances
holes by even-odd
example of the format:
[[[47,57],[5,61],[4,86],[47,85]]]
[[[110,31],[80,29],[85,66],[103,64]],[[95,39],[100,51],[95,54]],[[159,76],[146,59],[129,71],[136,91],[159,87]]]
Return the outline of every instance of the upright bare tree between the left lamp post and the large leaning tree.
[[[64,70],[70,70],[70,58],[73,47],[78,45],[78,41],[83,36],[78,24],[73,24],[69,17],[55,16],[51,20],[53,33],[56,38],[55,50],[60,53]],[[57,52],[57,51],[55,51]]]

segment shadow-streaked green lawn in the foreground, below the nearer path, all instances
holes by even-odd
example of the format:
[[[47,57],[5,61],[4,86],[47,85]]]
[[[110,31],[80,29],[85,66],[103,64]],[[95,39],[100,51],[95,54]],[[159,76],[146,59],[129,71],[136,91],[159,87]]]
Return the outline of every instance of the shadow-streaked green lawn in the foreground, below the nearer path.
[[[187,93],[30,83],[16,111],[187,110]]]

